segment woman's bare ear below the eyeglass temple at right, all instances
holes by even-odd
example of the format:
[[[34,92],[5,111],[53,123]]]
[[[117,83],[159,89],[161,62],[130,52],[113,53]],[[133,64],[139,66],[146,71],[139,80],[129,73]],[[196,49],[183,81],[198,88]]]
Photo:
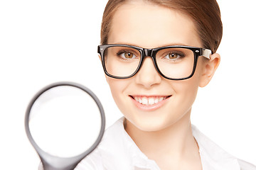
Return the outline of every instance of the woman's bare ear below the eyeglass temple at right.
[[[217,53],[210,55],[210,60],[203,64],[203,74],[199,86],[204,87],[210,82],[219,64],[220,55]]]

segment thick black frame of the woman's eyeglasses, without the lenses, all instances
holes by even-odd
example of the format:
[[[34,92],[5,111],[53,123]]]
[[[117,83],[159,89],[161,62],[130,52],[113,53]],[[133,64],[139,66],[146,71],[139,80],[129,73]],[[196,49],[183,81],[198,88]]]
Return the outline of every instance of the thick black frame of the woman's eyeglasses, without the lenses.
[[[141,60],[139,61],[139,65],[137,67],[137,69],[134,71],[133,74],[127,76],[127,77],[117,77],[114,76],[112,74],[109,74],[107,72],[107,69],[105,67],[105,57],[104,57],[104,53],[105,50],[109,47],[130,47],[133,48],[137,51],[139,51],[140,55],[142,56]],[[161,73],[157,63],[156,63],[156,53],[159,50],[164,50],[166,48],[185,48],[188,50],[191,50],[194,54],[194,63],[193,63],[193,71],[191,73],[191,75],[189,75],[188,77],[184,77],[184,78],[180,78],[180,79],[174,79],[174,78],[170,78],[170,77],[166,77],[164,74]],[[133,45],[124,45],[124,44],[108,44],[108,45],[98,45],[97,48],[97,52],[98,54],[100,54],[101,60],[102,60],[102,67],[104,69],[105,74],[107,74],[108,77],[112,77],[114,79],[128,79],[130,77],[133,77],[135,74],[137,74],[137,72],[139,72],[139,69],[142,67],[142,63],[144,61],[144,59],[146,57],[151,57],[151,59],[154,62],[154,67],[156,68],[156,71],[164,78],[166,79],[170,79],[170,80],[183,80],[183,79],[189,79],[191,77],[193,77],[193,74],[196,71],[196,65],[198,62],[198,57],[203,56],[206,57],[208,60],[210,60],[210,55],[212,54],[211,50],[208,50],[206,48],[201,48],[201,47],[191,47],[191,46],[185,46],[185,45],[169,45],[169,46],[164,46],[164,47],[156,47],[156,48],[142,48],[142,47],[136,47]]]

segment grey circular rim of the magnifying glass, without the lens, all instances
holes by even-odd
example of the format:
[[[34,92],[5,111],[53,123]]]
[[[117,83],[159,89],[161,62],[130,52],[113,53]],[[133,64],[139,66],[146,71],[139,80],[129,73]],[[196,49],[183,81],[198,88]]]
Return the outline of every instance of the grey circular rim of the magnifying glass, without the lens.
[[[97,137],[97,140],[93,143],[93,145],[87,149],[85,152],[82,152],[82,154],[78,154],[77,156],[73,156],[73,157],[56,157],[53,156],[52,154],[48,154],[47,152],[43,151],[43,149],[41,149],[41,147],[39,147],[35,140],[33,140],[33,137],[31,135],[31,131],[29,129],[29,125],[28,125],[28,121],[29,121],[29,115],[31,113],[31,108],[33,107],[33,104],[35,103],[35,101],[46,91],[48,91],[49,89],[53,89],[55,87],[58,86],[73,86],[76,87],[78,89],[81,89],[82,91],[85,91],[85,93],[89,94],[93,100],[95,101],[95,103],[97,104],[99,110],[100,110],[100,115],[101,115],[101,128],[100,128],[100,134]],[[105,112],[103,110],[102,104],[100,103],[100,100],[97,98],[97,96],[87,87],[83,86],[82,84],[78,84],[75,82],[71,82],[71,81],[60,81],[60,82],[56,82],[53,84],[50,84],[48,86],[45,86],[43,89],[41,89],[40,91],[38,91],[38,93],[33,96],[33,98],[31,99],[30,103],[28,104],[28,108],[26,109],[26,115],[25,115],[25,129],[26,129],[26,135],[28,136],[28,140],[31,142],[31,144],[33,145],[33,147],[36,149],[36,152],[38,152],[39,157],[41,158],[41,161],[43,162],[43,164],[49,164],[50,162],[56,162],[55,159],[58,160],[62,160],[65,162],[80,162],[84,157],[86,157],[88,154],[90,154],[90,152],[92,152],[97,145],[100,144],[100,141],[102,140],[102,137],[104,135],[105,132]],[[63,165],[62,165],[63,166]],[[58,169],[58,168],[57,168]]]

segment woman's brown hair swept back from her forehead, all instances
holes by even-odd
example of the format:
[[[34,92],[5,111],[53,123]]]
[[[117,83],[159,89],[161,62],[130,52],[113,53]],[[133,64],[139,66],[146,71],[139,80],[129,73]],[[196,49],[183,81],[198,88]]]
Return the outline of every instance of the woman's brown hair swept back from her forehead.
[[[129,0],[109,0],[102,17],[101,44],[107,44],[112,17],[117,8]],[[216,0],[144,0],[173,8],[190,16],[195,23],[203,47],[216,52],[223,35],[220,8]]]

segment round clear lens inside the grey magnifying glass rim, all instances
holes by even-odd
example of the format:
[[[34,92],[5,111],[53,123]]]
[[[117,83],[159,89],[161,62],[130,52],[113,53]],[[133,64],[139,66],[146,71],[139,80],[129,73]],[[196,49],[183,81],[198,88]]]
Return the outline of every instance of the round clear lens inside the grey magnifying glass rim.
[[[57,157],[74,157],[89,149],[100,133],[97,104],[85,91],[58,86],[33,104],[29,128],[41,149]]]

